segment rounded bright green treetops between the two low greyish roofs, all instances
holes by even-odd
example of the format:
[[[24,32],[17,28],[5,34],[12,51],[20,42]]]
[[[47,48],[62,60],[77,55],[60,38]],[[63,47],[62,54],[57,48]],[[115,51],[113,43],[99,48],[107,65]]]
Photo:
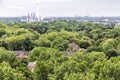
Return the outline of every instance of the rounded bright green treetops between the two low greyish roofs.
[[[29,60],[49,60],[52,57],[57,58],[61,55],[62,54],[59,50],[53,48],[36,47],[31,51],[29,55]]]

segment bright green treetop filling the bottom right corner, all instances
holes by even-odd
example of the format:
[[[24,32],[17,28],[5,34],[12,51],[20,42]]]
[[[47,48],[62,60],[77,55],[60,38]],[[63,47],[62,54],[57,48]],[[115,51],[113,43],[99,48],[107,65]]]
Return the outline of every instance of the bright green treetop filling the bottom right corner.
[[[96,79],[104,80],[119,80],[119,57],[111,58],[108,61],[96,62],[93,70],[96,74]]]

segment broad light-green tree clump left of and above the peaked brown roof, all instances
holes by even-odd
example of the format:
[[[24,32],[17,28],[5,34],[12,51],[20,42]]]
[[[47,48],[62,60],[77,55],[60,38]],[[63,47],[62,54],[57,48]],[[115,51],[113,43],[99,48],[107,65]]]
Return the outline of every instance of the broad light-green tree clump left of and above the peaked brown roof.
[[[40,38],[36,40],[36,45],[40,47],[51,47],[59,49],[60,51],[65,51],[72,41],[79,42],[77,37],[77,33],[67,32],[64,30],[61,32],[51,32],[40,36]]]

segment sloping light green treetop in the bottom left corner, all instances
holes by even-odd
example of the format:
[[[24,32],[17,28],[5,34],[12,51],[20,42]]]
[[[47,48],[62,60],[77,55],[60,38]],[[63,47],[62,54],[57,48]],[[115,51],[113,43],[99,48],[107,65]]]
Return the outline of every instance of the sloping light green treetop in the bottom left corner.
[[[13,69],[9,63],[0,63],[0,80],[25,80],[24,75]]]

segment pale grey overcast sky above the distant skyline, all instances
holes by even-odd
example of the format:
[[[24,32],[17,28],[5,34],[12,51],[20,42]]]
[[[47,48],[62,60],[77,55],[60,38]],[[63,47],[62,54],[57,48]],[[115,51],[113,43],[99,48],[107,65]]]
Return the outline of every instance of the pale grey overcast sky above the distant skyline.
[[[0,0],[0,16],[120,16],[120,0]]]

